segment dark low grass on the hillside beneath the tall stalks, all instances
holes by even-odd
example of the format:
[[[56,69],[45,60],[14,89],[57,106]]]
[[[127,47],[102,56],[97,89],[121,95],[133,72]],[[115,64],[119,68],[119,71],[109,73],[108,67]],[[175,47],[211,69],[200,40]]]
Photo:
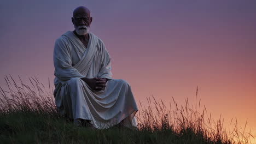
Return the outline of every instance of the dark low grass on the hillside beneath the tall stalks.
[[[32,111],[0,113],[1,143],[221,143],[184,130],[92,130],[75,127],[64,117]]]

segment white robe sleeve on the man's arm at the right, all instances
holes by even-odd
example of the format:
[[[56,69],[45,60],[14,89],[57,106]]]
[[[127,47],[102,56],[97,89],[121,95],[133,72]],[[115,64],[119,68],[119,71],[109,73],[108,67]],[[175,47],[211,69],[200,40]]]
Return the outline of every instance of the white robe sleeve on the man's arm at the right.
[[[102,58],[101,58],[101,68],[100,68],[100,72],[98,73],[98,77],[112,79],[110,56],[104,43],[102,43],[101,46],[102,46]]]

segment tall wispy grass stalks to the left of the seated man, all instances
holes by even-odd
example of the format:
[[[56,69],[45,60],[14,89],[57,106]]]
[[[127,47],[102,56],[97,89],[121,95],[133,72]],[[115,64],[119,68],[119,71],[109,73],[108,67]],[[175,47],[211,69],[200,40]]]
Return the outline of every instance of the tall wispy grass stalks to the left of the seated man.
[[[36,77],[29,78],[30,84],[22,82],[20,76],[20,85],[18,85],[13,77],[5,76],[5,83],[8,87],[4,90],[0,87],[0,112],[8,114],[11,112],[36,112],[44,115],[56,116],[57,110],[53,97],[53,88],[46,88],[40,83]]]

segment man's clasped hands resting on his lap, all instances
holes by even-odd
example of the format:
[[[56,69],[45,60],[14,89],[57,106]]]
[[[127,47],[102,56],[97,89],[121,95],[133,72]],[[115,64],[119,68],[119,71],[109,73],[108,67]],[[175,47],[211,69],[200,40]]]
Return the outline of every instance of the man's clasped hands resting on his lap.
[[[83,77],[82,80],[87,83],[94,91],[102,91],[106,87],[106,78],[94,77],[92,79],[88,79]]]

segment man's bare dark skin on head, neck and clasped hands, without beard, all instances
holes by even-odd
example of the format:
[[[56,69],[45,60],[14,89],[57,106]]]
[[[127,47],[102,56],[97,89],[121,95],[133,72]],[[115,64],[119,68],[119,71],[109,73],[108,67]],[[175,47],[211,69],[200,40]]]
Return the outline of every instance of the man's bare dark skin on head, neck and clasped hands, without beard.
[[[73,25],[75,26],[88,26],[90,27],[92,22],[92,17],[90,15],[90,10],[86,7],[78,7],[73,12],[73,17],[71,18]],[[75,35],[77,35],[78,39],[82,41],[85,47],[88,46],[89,42],[89,34],[85,35],[78,35],[75,30],[73,31]],[[100,78],[100,77],[94,77],[92,79],[88,79],[86,77],[83,77],[82,80],[86,82],[91,89],[94,91],[101,91],[106,87],[106,82],[108,79],[106,78]]]

